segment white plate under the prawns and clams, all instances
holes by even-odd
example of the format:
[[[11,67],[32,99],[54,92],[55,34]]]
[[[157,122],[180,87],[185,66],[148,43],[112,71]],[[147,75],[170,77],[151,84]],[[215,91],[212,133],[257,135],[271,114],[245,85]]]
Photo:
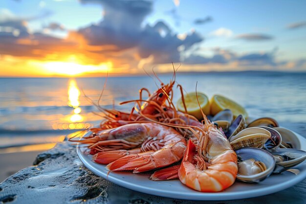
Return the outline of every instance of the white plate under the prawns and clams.
[[[88,134],[90,134],[90,132],[88,132],[86,136]],[[295,134],[300,139],[302,150],[306,151],[306,139],[297,133]],[[282,174],[271,175],[260,183],[243,183],[236,181],[231,187],[222,192],[202,193],[188,188],[179,180],[151,181],[149,180],[150,174],[132,174],[131,172],[109,173],[105,168],[106,165],[98,164],[91,160],[92,155],[88,155],[86,151],[87,148],[78,147],[77,152],[81,161],[96,175],[135,191],[175,199],[211,201],[252,198],[284,190],[306,178],[306,162],[303,162],[294,167],[301,171],[298,175],[286,171]]]

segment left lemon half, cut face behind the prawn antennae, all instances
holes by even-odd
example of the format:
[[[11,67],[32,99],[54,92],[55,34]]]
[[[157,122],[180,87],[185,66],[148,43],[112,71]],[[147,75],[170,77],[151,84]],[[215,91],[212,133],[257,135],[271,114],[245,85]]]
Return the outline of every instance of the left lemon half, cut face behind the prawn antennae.
[[[200,103],[200,107],[197,104],[197,98]],[[209,114],[210,112],[209,99],[207,95],[205,95],[204,93],[197,92],[196,95],[196,92],[190,92],[184,95],[184,99],[188,114],[195,116],[198,120],[203,119],[201,109],[206,115]],[[181,98],[177,101],[176,107],[177,110],[185,113],[183,101]]]

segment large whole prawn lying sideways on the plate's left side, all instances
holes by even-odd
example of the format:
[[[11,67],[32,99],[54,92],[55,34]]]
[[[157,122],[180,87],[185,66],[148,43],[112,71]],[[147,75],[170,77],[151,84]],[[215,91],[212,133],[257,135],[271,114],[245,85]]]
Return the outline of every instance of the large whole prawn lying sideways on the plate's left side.
[[[171,127],[155,123],[127,124],[77,142],[102,151],[93,156],[94,161],[104,164],[114,161],[108,166],[110,170],[134,173],[175,163],[182,159],[186,148],[183,136]],[[127,155],[128,158],[124,157]],[[120,160],[121,157],[124,158]]]

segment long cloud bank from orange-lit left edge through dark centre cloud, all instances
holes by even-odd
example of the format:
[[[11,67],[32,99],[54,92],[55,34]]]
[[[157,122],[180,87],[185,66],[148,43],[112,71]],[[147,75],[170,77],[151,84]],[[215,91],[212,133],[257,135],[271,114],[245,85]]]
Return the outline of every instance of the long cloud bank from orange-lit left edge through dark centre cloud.
[[[110,61],[118,70],[137,72],[142,59],[148,58],[140,66],[180,62],[182,52],[203,40],[195,31],[179,38],[164,21],[144,24],[153,11],[153,1],[81,0],[81,3],[102,5],[103,18],[99,23],[70,30],[64,39],[42,33],[45,29],[63,30],[60,23],[49,23],[43,26],[43,31],[30,33],[25,18],[6,14],[14,16],[9,19],[18,19],[20,25],[14,27],[23,28],[27,35],[14,36],[12,31],[0,30],[0,54],[43,61],[65,61],[73,55],[79,63],[98,65]]]

